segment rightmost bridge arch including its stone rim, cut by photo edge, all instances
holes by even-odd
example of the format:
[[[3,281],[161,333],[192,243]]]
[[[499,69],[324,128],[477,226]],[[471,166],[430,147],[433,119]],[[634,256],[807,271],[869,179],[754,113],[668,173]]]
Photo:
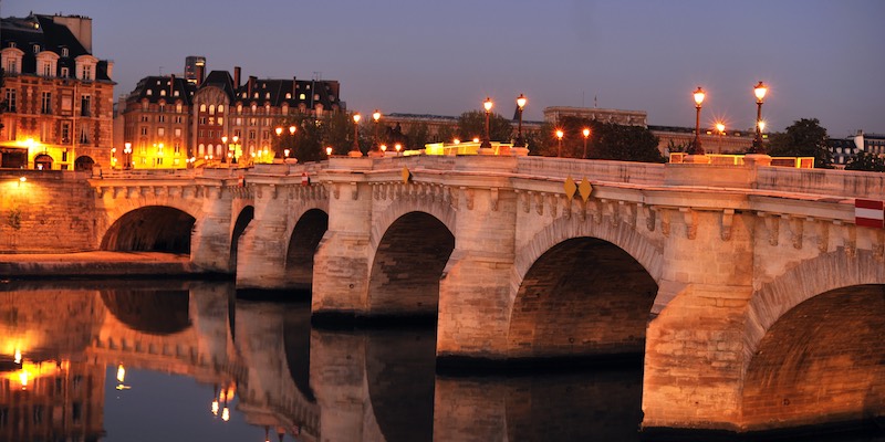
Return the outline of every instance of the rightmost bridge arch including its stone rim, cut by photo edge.
[[[745,336],[745,427],[885,415],[883,335],[885,266],[870,251],[825,253],[763,285]]]

